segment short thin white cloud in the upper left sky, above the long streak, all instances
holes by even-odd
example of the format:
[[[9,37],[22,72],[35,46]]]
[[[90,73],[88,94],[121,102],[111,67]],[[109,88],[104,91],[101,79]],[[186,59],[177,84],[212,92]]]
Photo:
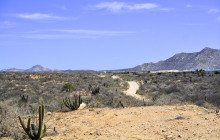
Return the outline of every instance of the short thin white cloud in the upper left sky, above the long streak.
[[[31,19],[31,20],[68,20],[69,18],[54,16],[52,14],[41,14],[41,13],[33,13],[33,14],[15,14],[18,18],[23,19]]]

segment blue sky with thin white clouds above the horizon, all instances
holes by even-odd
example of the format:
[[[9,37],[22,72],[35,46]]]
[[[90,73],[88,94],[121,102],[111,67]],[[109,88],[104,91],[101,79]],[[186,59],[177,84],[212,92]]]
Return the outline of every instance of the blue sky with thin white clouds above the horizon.
[[[0,70],[113,70],[220,49],[219,0],[0,0]]]

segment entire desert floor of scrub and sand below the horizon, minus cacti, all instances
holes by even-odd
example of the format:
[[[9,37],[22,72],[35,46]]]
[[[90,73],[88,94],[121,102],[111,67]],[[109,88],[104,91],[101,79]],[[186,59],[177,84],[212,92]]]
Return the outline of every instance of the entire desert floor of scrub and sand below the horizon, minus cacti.
[[[25,138],[17,116],[27,123],[25,116],[31,117],[39,102],[45,105],[43,139],[218,139],[219,77],[217,72],[3,72],[1,132],[9,136],[4,139]],[[66,83],[73,88],[64,89]],[[75,94],[82,104],[71,111],[63,99]]]

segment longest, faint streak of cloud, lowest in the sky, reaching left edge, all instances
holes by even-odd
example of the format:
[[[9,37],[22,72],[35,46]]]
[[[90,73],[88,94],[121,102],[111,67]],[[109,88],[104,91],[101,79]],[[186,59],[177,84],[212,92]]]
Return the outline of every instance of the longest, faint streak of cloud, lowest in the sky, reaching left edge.
[[[31,38],[31,39],[82,39],[82,38],[99,38],[115,37],[133,34],[130,31],[111,31],[111,30],[83,30],[83,29],[52,29],[36,30],[30,32],[20,32],[14,34],[0,35],[2,38]]]

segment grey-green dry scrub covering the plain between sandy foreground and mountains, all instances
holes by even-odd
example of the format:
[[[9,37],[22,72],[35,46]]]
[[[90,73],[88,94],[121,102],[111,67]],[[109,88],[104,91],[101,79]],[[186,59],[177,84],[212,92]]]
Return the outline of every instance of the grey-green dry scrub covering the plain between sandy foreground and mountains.
[[[114,79],[113,75],[120,78]],[[124,94],[129,88],[127,81],[136,81],[140,87],[136,94],[148,100]],[[87,108],[195,104],[218,109],[220,74],[202,70],[179,73],[1,72],[0,95],[0,136],[23,139],[25,133],[18,124],[18,116],[33,115],[41,105],[45,113],[77,110],[82,102]]]

